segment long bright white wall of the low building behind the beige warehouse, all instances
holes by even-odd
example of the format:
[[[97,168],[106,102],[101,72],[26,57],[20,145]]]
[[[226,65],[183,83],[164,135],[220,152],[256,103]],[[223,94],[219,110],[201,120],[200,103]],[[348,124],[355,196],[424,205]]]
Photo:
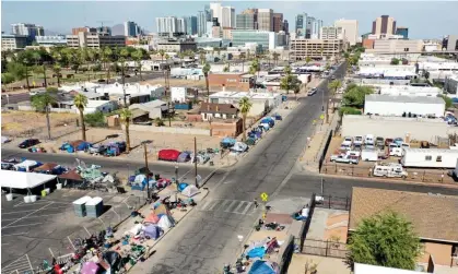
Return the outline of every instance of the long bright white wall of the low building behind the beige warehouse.
[[[364,114],[379,116],[402,116],[402,114],[442,117],[445,112],[445,104],[421,104],[403,102],[373,102],[366,100]]]

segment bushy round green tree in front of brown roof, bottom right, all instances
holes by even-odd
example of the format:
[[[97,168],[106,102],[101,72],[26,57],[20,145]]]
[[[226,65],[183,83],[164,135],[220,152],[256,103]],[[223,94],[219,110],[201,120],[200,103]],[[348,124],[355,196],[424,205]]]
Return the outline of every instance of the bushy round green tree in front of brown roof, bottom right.
[[[348,263],[414,270],[421,254],[412,224],[394,212],[364,218],[350,237]]]

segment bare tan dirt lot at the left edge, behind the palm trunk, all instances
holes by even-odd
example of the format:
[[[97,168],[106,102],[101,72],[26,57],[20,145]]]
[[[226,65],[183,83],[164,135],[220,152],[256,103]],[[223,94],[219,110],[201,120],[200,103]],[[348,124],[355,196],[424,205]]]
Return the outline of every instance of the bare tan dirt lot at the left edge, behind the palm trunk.
[[[50,114],[51,136],[62,135],[75,130],[78,115]],[[1,132],[8,136],[47,138],[46,116],[33,111],[3,111],[1,114]]]

